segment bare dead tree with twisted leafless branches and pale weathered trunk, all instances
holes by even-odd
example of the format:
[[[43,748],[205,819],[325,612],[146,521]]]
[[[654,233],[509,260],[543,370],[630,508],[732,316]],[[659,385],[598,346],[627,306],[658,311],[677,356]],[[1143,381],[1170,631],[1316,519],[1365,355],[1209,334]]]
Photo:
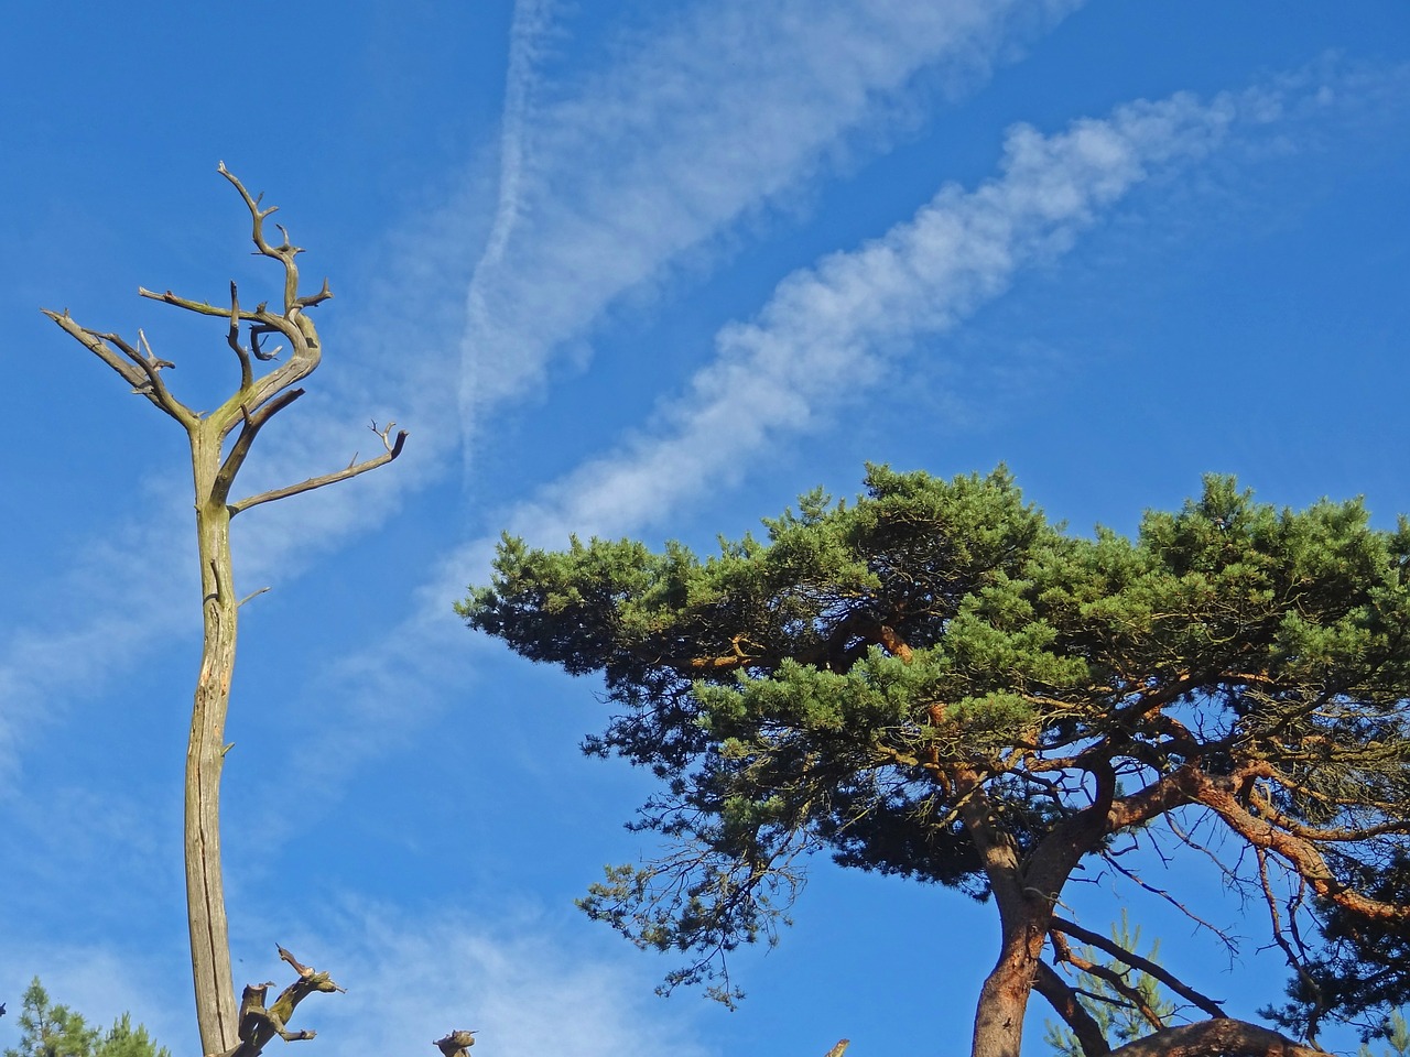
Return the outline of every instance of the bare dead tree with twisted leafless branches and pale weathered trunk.
[[[161,359],[138,330],[135,344],[117,334],[90,330],[73,320],[68,310],[44,314],[97,355],[131,385],[133,392],[147,397],[161,412],[180,423],[190,440],[192,475],[196,489],[196,540],[200,557],[200,595],[204,620],[204,641],[200,675],[196,681],[196,700],[192,709],[190,743],[186,750],[186,908],[190,919],[192,975],[196,985],[196,1016],[200,1025],[202,1051],[226,1054],[237,1049],[243,1057],[258,1053],[274,1034],[307,1037],[312,1033],[290,1033],[283,1019],[292,1006],[312,991],[331,991],[336,987],[327,974],[316,974],[285,957],[300,974],[300,981],[289,988],[276,1003],[278,1025],[265,1016],[252,1018],[259,1030],[241,1030],[241,1010],[235,1003],[230,970],[230,939],[226,922],[226,898],[220,870],[220,772],[224,762],[226,715],[230,706],[230,681],[235,665],[235,631],[243,599],[235,593],[230,554],[230,520],[252,506],[275,499],[312,492],[324,485],[347,481],[358,474],[385,465],[402,454],[406,431],[392,434],[395,423],[385,428],[372,424],[382,443],[375,458],[354,461],[343,469],[299,483],[269,489],[243,499],[231,499],[235,476],[244,465],[255,437],[265,424],[290,403],[303,396],[299,383],[312,375],[323,357],[317,328],[309,314],[333,296],[324,279],[317,293],[299,293],[296,258],[303,249],[289,241],[289,233],[279,224],[279,242],[265,234],[265,221],[274,206],[261,209],[261,197],[251,196],[244,185],[220,165],[220,175],[240,192],[252,220],[257,254],[276,261],[283,271],[283,292],[278,307],[261,302],[254,309],[240,304],[235,283],[230,283],[230,304],[216,306],[179,297],[166,290],[154,293],[138,288],[142,297],[212,316],[227,323],[226,344],[240,364],[240,386],[213,412],[195,412],[172,395],[164,369],[173,366]],[[276,348],[268,348],[279,342]],[[282,355],[281,351],[286,350]],[[271,364],[257,372],[257,364]],[[227,447],[227,440],[235,434]],[[285,951],[281,950],[283,956]],[[309,981],[313,979],[313,984]],[[300,987],[302,985],[302,987]],[[262,992],[261,998],[262,998]],[[247,1009],[247,1018],[248,1016]],[[265,1030],[268,1029],[268,1030]],[[258,1046],[252,1043],[258,1039]]]

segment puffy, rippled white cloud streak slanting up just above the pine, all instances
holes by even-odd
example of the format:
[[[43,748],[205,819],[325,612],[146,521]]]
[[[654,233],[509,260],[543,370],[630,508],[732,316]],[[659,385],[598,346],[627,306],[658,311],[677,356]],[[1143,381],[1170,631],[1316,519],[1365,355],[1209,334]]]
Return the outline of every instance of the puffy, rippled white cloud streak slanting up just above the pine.
[[[1066,249],[1153,169],[1214,149],[1238,116],[1234,97],[1182,94],[1053,135],[1010,130],[998,176],[971,192],[946,185],[881,238],[790,275],[754,320],[719,331],[715,362],[654,428],[515,509],[512,531],[553,543],[633,531],[730,483],[749,455],[816,428],[843,399],[881,385],[904,350]]]

